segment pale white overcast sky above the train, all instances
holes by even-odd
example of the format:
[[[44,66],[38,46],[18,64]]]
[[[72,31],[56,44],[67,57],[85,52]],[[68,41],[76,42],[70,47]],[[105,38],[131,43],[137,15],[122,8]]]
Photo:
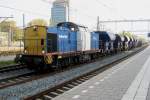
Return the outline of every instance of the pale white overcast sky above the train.
[[[50,0],[51,2],[53,0]],[[25,13],[26,23],[34,18],[49,20],[51,4],[42,0],[0,0],[0,16],[14,16],[18,26],[22,26],[22,13]],[[7,7],[20,9],[11,10]],[[100,20],[110,19],[150,19],[150,0],[70,0],[71,21],[96,27],[97,16]],[[131,27],[129,23],[106,25],[112,30],[128,28],[147,29],[147,23],[138,23]],[[142,27],[142,28],[141,28]],[[140,29],[141,28],[141,29]]]

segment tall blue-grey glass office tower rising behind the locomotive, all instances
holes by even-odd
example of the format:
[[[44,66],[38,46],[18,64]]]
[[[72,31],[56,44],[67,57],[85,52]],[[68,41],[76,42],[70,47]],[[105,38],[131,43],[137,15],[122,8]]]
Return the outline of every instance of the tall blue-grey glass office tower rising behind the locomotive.
[[[69,20],[69,0],[56,0],[51,8],[51,26]]]

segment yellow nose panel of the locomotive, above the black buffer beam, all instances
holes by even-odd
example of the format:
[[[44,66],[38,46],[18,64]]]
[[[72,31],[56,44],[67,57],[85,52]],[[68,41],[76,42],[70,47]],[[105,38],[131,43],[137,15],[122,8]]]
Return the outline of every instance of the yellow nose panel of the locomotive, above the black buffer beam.
[[[32,26],[24,30],[24,54],[41,55],[46,47],[46,27]]]

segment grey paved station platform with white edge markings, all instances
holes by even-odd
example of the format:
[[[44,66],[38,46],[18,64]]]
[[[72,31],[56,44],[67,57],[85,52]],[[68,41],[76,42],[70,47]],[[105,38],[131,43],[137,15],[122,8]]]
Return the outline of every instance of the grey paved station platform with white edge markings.
[[[53,100],[150,100],[149,83],[150,46]]]

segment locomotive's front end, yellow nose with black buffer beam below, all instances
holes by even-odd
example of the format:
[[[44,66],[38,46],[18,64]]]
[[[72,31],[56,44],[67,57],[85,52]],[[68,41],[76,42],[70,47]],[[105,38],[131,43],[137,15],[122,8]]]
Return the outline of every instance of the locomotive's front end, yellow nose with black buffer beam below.
[[[24,52],[16,58],[29,68],[43,68],[51,64],[51,56],[46,55],[46,26],[31,26],[24,29]],[[38,66],[38,67],[37,67]],[[40,67],[39,67],[40,66]]]

